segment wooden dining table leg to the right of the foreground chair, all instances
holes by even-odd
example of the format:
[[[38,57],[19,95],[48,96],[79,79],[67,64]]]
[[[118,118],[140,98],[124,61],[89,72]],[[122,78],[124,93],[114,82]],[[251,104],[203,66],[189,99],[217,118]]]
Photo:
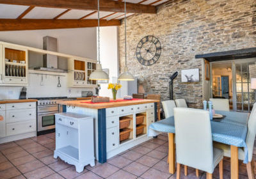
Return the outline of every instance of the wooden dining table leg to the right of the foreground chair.
[[[238,179],[239,173],[239,162],[238,162],[238,148],[237,146],[230,146],[231,157],[230,157],[230,173],[231,179]]]

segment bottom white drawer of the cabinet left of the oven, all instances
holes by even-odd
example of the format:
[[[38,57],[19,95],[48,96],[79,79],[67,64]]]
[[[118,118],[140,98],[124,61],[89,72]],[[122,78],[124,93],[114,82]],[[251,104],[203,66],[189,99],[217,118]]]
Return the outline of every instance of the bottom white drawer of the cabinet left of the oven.
[[[6,136],[33,132],[36,130],[35,121],[24,121],[17,123],[6,123]]]

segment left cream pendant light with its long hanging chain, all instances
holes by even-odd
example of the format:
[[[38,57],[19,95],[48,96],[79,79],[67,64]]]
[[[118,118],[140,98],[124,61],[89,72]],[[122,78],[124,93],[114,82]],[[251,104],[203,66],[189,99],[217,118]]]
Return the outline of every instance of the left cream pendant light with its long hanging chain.
[[[102,70],[100,64],[100,1],[98,0],[98,63],[96,70],[89,77],[90,80],[109,80],[109,76]]]

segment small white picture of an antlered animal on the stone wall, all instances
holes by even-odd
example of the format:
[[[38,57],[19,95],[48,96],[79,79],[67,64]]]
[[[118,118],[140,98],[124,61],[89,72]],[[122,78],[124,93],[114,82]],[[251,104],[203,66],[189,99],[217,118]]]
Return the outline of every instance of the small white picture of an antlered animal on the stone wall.
[[[181,70],[181,82],[199,82],[199,68]]]

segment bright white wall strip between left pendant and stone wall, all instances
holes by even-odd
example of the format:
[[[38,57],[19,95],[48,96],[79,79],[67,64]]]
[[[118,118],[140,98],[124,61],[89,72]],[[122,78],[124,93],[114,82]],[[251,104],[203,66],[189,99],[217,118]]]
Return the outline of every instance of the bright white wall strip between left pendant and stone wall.
[[[113,81],[113,78],[118,77],[118,27],[116,26],[100,27],[100,63],[102,68],[109,69],[109,82],[116,82]],[[99,95],[112,98],[108,83],[100,83]]]

